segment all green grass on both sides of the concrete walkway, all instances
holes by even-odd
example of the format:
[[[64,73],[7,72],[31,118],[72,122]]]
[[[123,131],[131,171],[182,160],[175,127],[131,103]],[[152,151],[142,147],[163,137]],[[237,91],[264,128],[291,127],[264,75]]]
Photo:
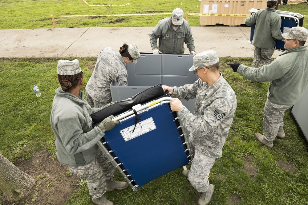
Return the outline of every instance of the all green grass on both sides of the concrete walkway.
[[[154,3],[155,2],[155,3]],[[0,0],[0,29],[53,28],[50,14],[157,14],[176,7],[199,13],[197,0]],[[198,7],[197,7],[198,6]],[[308,4],[279,5],[279,10],[308,14]],[[167,15],[57,17],[57,27],[156,26]],[[306,18],[306,19],[305,19]],[[304,27],[308,26],[308,17]],[[189,16],[191,26],[200,26],[198,16]],[[97,57],[77,59],[84,71],[84,86]],[[69,57],[67,60],[75,58]],[[60,58],[0,58],[0,153],[11,162],[22,162],[47,149],[55,157],[55,136],[50,113],[55,89],[59,87],[57,62]],[[308,153],[304,140],[287,110],[284,116],[286,140],[275,140],[269,149],[257,142],[262,133],[263,108],[268,82],[249,83],[226,64],[236,60],[251,65],[252,58],[221,58],[221,72],[237,95],[237,111],[223,156],[217,159],[209,178],[215,185],[210,205],[306,205],[308,204]],[[39,86],[36,97],[33,85]],[[84,90],[84,88],[83,88]],[[189,166],[188,166],[189,168]],[[133,192],[131,188],[107,192],[104,196],[123,205],[193,205],[200,196],[181,175],[182,169],[161,176]],[[117,172],[116,179],[124,181]],[[0,198],[3,197],[0,194]],[[13,203],[12,204],[18,204]],[[30,203],[29,203],[30,204]],[[66,205],[92,204],[86,185],[74,192]]]

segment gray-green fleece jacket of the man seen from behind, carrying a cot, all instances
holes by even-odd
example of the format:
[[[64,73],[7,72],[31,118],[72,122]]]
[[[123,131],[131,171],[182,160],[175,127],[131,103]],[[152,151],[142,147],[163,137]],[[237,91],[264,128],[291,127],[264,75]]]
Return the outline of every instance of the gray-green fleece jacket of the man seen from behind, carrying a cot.
[[[253,33],[252,45],[259,48],[272,48],[277,40],[284,40],[282,37],[281,17],[275,9],[266,7],[245,19],[247,26],[256,25]]]

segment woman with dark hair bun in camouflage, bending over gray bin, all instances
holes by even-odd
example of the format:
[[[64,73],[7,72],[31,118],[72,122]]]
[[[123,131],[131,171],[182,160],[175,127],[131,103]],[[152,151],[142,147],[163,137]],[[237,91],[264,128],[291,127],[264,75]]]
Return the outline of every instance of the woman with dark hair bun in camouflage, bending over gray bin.
[[[100,108],[112,101],[110,83],[116,81],[118,86],[127,85],[125,63],[137,63],[140,58],[136,44],[123,44],[119,52],[106,47],[97,57],[94,71],[86,86],[87,102],[92,108]]]

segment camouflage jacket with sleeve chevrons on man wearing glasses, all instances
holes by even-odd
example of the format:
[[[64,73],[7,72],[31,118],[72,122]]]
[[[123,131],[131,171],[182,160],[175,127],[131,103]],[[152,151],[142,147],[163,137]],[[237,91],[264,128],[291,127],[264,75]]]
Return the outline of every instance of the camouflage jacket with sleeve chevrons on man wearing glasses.
[[[195,114],[184,106],[178,117],[193,138],[195,149],[209,157],[221,157],[236,110],[236,96],[220,73],[219,79],[209,86],[198,79],[193,84],[173,87],[172,97],[196,98]]]

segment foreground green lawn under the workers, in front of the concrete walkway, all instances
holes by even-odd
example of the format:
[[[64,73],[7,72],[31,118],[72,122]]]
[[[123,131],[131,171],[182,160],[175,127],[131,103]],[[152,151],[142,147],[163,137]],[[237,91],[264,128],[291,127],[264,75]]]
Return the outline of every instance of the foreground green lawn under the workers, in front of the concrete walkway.
[[[96,57],[78,59],[85,73],[86,85]],[[44,148],[55,156],[50,112],[55,89],[59,87],[58,60],[0,58],[0,153],[12,162],[30,158]],[[249,83],[226,65],[232,60],[251,65],[253,59],[221,58],[221,72],[237,95],[237,111],[223,156],[216,160],[211,170],[209,180],[215,185],[215,192],[210,205],[308,204],[307,146],[298,136],[290,110],[284,117],[286,140],[275,140],[273,149],[257,142],[254,133],[262,133],[268,82],[264,85]],[[32,90],[34,84],[39,86],[41,97],[35,96]],[[199,195],[182,177],[181,170],[174,170],[145,184],[138,188],[138,192],[127,188],[107,192],[105,197],[115,204],[193,205]],[[116,178],[124,180],[118,172]],[[92,204],[87,187],[83,186],[73,193],[66,204]]]

